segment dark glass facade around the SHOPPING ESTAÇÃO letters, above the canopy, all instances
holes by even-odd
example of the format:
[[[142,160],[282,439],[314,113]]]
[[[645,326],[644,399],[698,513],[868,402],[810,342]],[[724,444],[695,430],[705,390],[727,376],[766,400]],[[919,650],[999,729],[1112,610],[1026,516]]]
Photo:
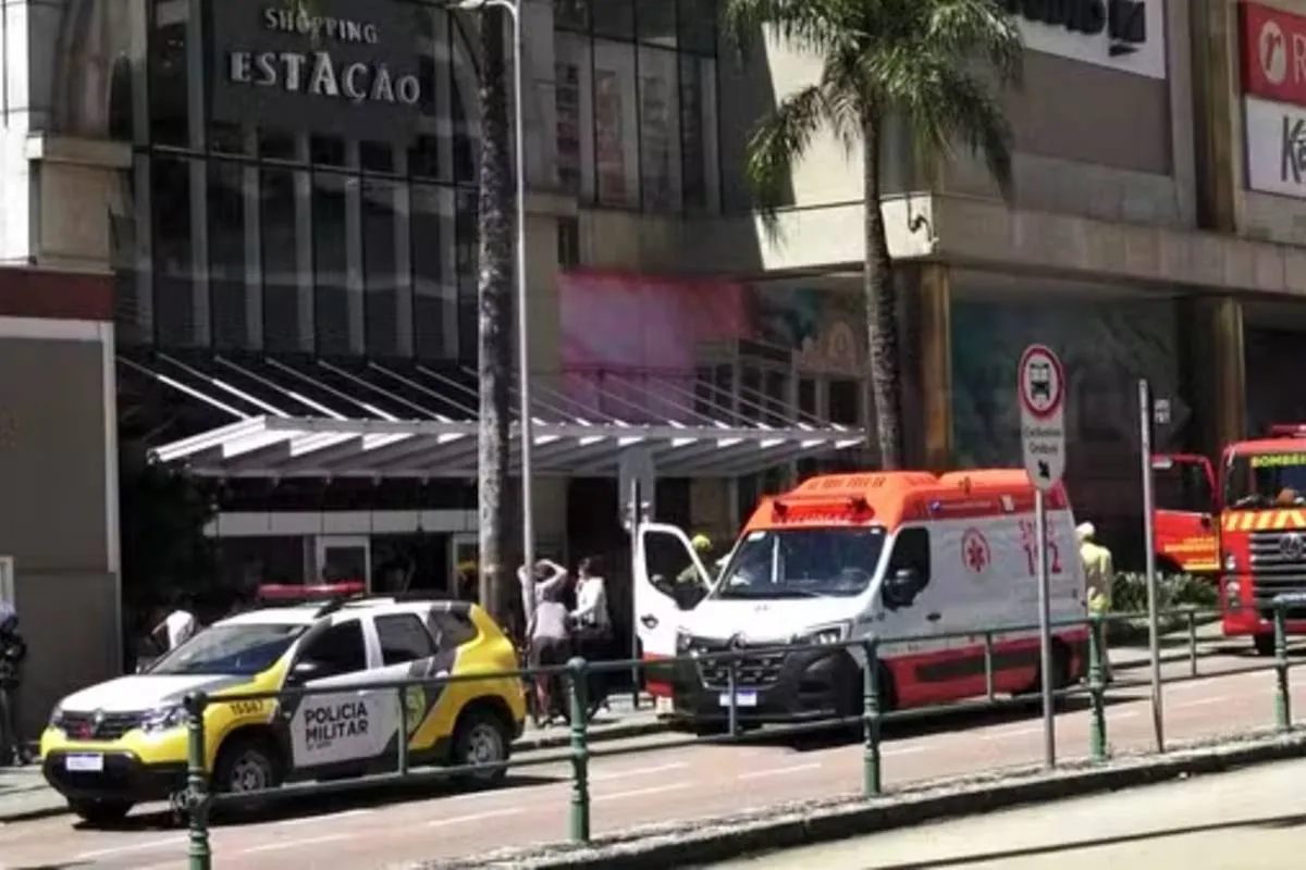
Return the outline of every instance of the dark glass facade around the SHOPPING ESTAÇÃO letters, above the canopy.
[[[323,0],[321,14],[340,5],[342,18],[374,16],[392,34],[390,65],[418,87],[404,98],[413,117],[398,136],[349,121],[372,110],[345,99],[340,130],[307,104],[285,125],[210,116],[221,110],[202,95],[230,85],[235,68],[222,61],[243,46],[218,44],[231,42],[230,23],[192,21],[200,4],[150,0],[149,74],[137,83],[149,112],[136,130],[129,206],[137,231],[120,233],[141,253],[119,258],[137,301],[121,307],[121,335],[222,351],[474,355],[475,30],[461,13],[383,1],[396,5]],[[236,31],[255,48],[268,38]]]

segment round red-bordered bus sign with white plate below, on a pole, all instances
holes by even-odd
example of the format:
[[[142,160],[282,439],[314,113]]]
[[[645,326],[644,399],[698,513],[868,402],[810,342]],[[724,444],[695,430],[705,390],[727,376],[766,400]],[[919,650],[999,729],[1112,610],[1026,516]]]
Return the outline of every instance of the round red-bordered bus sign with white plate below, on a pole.
[[[1025,471],[1047,492],[1066,473],[1066,369],[1050,348],[1030,344],[1020,355],[1016,394]]]

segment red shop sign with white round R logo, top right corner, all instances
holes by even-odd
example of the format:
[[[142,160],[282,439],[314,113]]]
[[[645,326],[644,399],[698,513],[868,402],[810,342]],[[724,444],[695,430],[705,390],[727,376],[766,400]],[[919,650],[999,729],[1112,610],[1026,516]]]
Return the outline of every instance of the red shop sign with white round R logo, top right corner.
[[[1242,4],[1242,89],[1306,106],[1306,17]]]

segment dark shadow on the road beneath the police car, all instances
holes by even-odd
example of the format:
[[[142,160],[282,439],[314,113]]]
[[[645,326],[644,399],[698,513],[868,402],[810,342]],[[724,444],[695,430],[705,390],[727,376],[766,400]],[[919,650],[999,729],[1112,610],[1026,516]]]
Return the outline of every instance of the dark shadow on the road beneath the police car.
[[[287,798],[270,798],[266,809],[248,811],[215,813],[210,827],[240,827],[246,824],[266,824],[286,819],[308,819],[319,815],[332,815],[358,809],[393,806],[415,801],[428,801],[470,792],[508,792],[518,788],[552,785],[564,781],[563,777],[509,775],[502,785],[492,788],[468,788],[444,783],[396,783],[393,785],[371,785],[355,792],[336,792],[313,797],[302,794]],[[158,831],[185,827],[185,820],[170,810],[137,813],[127,817],[120,824],[91,826],[78,822],[77,831]],[[4,865],[0,863],[0,867]]]

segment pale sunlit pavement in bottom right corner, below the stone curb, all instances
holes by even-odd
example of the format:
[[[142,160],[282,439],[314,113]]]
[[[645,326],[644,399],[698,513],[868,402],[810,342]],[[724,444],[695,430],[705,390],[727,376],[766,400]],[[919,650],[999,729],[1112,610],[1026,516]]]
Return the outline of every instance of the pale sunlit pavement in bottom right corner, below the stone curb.
[[[1284,870],[1302,865],[1306,762],[994,813],[714,870]]]

